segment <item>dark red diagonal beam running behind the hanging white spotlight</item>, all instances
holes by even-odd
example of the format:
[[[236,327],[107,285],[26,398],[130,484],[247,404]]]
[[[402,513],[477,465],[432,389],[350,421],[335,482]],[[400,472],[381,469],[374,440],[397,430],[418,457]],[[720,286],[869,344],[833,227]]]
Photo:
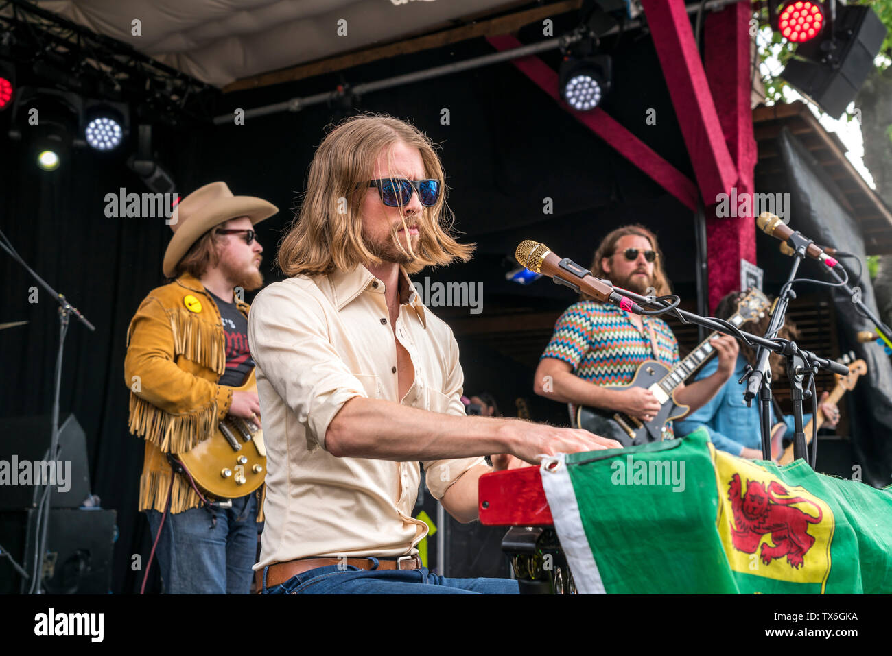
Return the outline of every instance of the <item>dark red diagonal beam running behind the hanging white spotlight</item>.
[[[500,51],[523,45],[515,37],[508,36],[487,37],[487,41]],[[541,61],[539,57],[533,56],[516,59],[512,63],[526,77],[540,86],[542,91],[554,98],[574,119],[588,127],[686,207],[690,209],[697,207],[697,186],[681,171],[660,157],[657,152],[654,152],[647,143],[642,142],[637,136],[617,123],[600,107],[596,107],[592,111],[575,111],[564,102],[558,93],[558,73],[548,64]]]

